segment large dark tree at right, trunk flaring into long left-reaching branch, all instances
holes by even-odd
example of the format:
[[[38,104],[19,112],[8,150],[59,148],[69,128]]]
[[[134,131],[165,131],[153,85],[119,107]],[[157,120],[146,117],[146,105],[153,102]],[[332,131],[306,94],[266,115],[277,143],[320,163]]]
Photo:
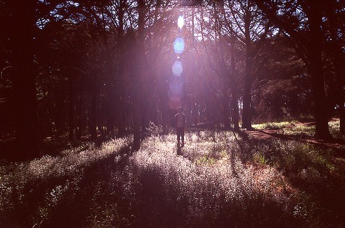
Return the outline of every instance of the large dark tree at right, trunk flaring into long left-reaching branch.
[[[324,10],[333,1],[255,1],[278,28],[294,41],[296,51],[303,59],[312,82],[315,137],[330,139],[322,61]]]

